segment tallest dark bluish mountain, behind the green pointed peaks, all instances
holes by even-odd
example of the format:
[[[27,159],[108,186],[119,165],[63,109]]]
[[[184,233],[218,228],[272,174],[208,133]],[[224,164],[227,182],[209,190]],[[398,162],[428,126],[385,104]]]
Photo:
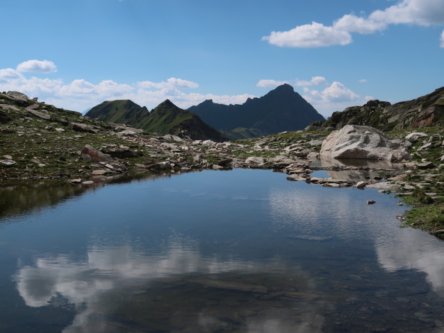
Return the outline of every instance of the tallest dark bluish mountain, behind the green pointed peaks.
[[[207,100],[188,110],[230,139],[302,130],[312,121],[325,120],[287,84],[241,105],[223,105]]]

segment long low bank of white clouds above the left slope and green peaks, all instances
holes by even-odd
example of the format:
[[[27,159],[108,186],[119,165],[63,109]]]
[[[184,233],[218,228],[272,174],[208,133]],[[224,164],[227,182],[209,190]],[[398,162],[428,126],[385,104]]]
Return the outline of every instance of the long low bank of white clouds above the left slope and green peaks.
[[[52,65],[51,65],[52,64]],[[68,110],[83,112],[103,101],[115,99],[130,99],[139,105],[147,108],[155,108],[158,104],[169,99],[180,108],[189,108],[212,99],[216,103],[241,104],[248,98],[255,96],[250,94],[239,95],[214,95],[188,93],[183,89],[195,89],[199,87],[194,83],[182,78],[169,78],[161,82],[142,81],[131,84],[117,83],[114,80],[103,80],[100,83],[91,83],[83,78],[79,78],[65,83],[61,79],[37,78],[26,76],[27,71],[35,71],[35,68],[49,73],[50,69],[56,69],[53,62],[44,60],[29,60],[22,62],[17,69],[0,69],[0,91],[16,90],[37,96],[39,99]],[[43,71],[40,71],[43,73]]]

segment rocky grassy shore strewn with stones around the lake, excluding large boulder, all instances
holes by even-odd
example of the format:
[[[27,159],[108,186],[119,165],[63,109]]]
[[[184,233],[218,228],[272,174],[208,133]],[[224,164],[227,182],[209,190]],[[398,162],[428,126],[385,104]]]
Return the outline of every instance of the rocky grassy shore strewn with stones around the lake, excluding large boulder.
[[[411,143],[413,160],[384,167],[319,162],[331,130],[284,132],[236,142],[191,140],[155,135],[121,124],[104,123],[78,112],[0,94],[0,180],[62,179],[92,185],[94,180],[142,171],[182,173],[204,169],[273,169],[288,180],[326,187],[373,187],[396,191],[414,209],[404,223],[444,234],[442,128],[389,133]],[[393,167],[395,166],[395,167]],[[314,170],[355,172],[353,177],[311,177]],[[365,175],[365,176],[364,176]],[[0,184],[1,184],[0,182]]]

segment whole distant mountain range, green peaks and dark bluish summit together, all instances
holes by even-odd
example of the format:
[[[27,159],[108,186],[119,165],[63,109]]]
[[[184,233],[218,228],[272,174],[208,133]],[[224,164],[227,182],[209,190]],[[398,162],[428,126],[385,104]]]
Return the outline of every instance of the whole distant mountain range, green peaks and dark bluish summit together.
[[[96,105],[85,116],[125,123],[153,133],[213,141],[301,130],[312,121],[325,120],[287,84],[260,98],[248,99],[242,105],[223,105],[208,100],[182,110],[167,100],[148,112],[146,107],[133,101],[120,100]]]

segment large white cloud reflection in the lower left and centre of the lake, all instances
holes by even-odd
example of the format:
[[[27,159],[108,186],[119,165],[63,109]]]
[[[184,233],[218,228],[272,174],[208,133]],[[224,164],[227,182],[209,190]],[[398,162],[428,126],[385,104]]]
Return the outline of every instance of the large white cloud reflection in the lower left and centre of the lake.
[[[295,331],[295,328],[302,324],[296,325],[291,320],[292,316],[289,315],[288,311],[282,316],[279,315],[279,311],[275,313],[272,309],[266,309],[263,304],[253,304],[254,302],[251,302],[256,300],[255,297],[257,296],[253,297],[248,293],[243,295],[236,291],[232,293],[234,298],[230,298],[233,296],[230,296],[227,291],[216,289],[216,291],[212,291],[208,299],[204,295],[198,296],[198,293],[208,291],[208,287],[205,287],[205,283],[207,283],[205,278],[212,283],[214,283],[212,279],[216,278],[216,281],[218,281],[216,283],[219,283],[217,279],[221,278],[224,280],[221,283],[228,285],[228,289],[236,289],[237,285],[240,286],[240,289],[245,289],[245,286],[248,287],[247,283],[250,283],[249,278],[242,278],[241,276],[246,273],[262,276],[262,272],[265,275],[268,272],[282,273],[286,270],[284,264],[276,258],[268,262],[256,263],[234,258],[224,260],[216,257],[203,257],[198,250],[196,241],[180,239],[176,236],[169,241],[167,248],[158,255],[142,253],[130,245],[115,247],[94,245],[89,248],[87,260],[83,262],[71,260],[67,255],[40,257],[36,259],[35,265],[19,268],[16,279],[17,289],[29,307],[54,305],[56,298],[60,298],[60,296],[76,306],[77,313],[74,321],[63,330],[65,333],[124,332],[113,326],[113,321],[119,321],[119,319],[112,318],[114,318],[116,311],[117,313],[121,311],[121,307],[126,307],[125,302],[129,302],[128,304],[131,306],[131,303],[135,300],[143,300],[143,303],[150,302],[149,298],[151,297],[161,296],[164,299],[169,299],[170,291],[173,297],[171,299],[178,299],[172,302],[177,302],[180,307],[178,309],[172,307],[173,309],[160,310],[159,307],[162,308],[164,303],[168,303],[167,300],[162,300],[151,310],[160,311],[160,314],[153,314],[153,316],[162,317],[164,315],[167,317],[166,321],[172,321],[173,313],[168,311],[182,311],[185,314],[180,314],[180,316],[174,318],[176,320],[182,318],[182,320],[194,321],[194,323],[187,323],[187,325],[196,327],[196,330],[200,330],[200,332],[216,332],[221,327],[234,325],[231,320],[223,319],[223,314],[218,313],[218,311],[226,312],[225,308],[221,310],[219,305],[217,307],[207,307],[207,302],[214,302],[211,298],[218,297],[222,300],[221,303],[232,302],[234,305],[230,311],[234,313],[244,308],[239,308],[238,303],[241,304],[241,302],[244,302],[244,298],[247,298],[245,304],[252,307],[249,311],[255,313],[255,318],[248,314],[250,317],[245,317],[248,320],[245,319],[244,323],[237,323],[236,325],[239,324],[239,327],[242,328],[241,332],[269,332],[264,330],[264,327],[275,327],[282,333],[321,332],[320,327],[319,330],[313,330],[313,327],[311,327],[309,331]],[[178,284],[179,289],[175,287],[175,277],[182,280],[180,283],[185,283],[185,287],[182,288],[183,291],[180,289],[180,287],[183,287],[182,284]],[[169,284],[169,279],[173,281],[172,284]],[[203,280],[199,282],[199,279]],[[185,282],[183,282],[184,280]],[[307,277],[302,280],[304,280],[306,286]],[[198,283],[202,285],[196,287]],[[154,287],[151,288],[152,285]],[[198,305],[194,305],[193,299],[180,300],[189,297],[186,294],[189,288],[195,289],[193,294],[199,298],[198,302],[200,303]],[[150,296],[150,292],[157,296]],[[227,294],[226,298],[224,293]],[[248,298],[251,299],[248,300]],[[259,300],[259,302],[264,301]],[[311,305],[313,309],[309,311],[309,316],[313,320],[316,316],[316,322],[322,323],[322,320],[319,321],[321,316],[317,314],[315,304]],[[139,310],[136,309],[135,311]],[[168,312],[168,314],[164,314],[165,312]],[[259,313],[260,316],[257,316],[256,314]],[[267,313],[268,316],[266,316]],[[134,315],[136,316],[136,314]],[[234,314],[232,315],[234,316]],[[121,314],[121,316],[126,318],[125,315]],[[307,316],[307,309],[305,309],[305,316]],[[138,324],[147,323],[146,325],[150,325],[151,322],[148,323],[144,320],[143,318],[140,319]],[[288,320],[290,321],[287,322]],[[126,318],[126,321],[130,321],[130,318]],[[305,327],[305,325],[307,323],[304,323],[301,327]]]

